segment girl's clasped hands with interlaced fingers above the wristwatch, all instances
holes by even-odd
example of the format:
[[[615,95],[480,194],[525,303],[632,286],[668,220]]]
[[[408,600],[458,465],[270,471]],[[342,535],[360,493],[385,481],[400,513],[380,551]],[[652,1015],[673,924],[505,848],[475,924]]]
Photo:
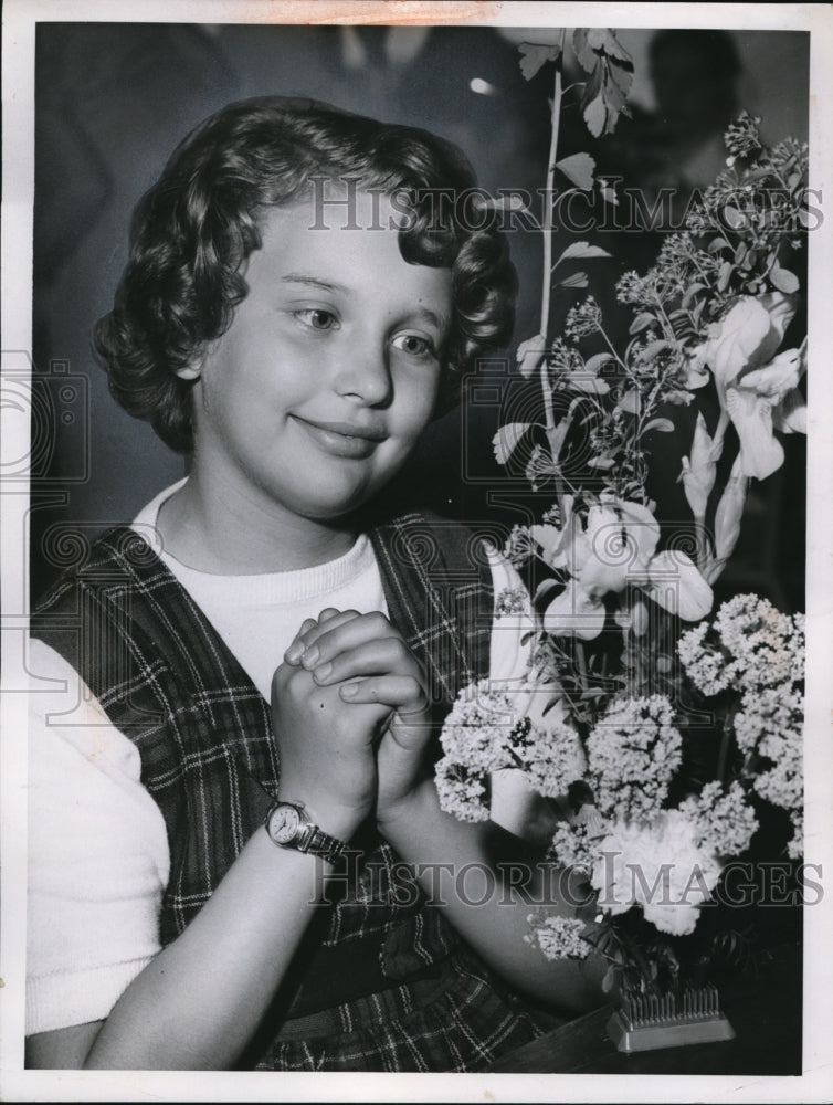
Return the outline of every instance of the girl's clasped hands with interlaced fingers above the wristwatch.
[[[424,675],[378,612],[308,619],[272,682],[281,797],[334,835],[394,815],[421,781],[430,736]]]

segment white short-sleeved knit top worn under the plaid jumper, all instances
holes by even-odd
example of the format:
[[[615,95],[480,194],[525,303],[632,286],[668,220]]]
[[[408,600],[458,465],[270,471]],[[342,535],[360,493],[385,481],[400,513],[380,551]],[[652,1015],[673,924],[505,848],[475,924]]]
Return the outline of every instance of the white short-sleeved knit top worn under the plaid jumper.
[[[133,523],[147,536],[160,493]],[[294,571],[217,576],[164,550],[161,559],[191,594],[268,699],[272,675],[305,618],[325,607],[387,613],[367,536],[328,564]],[[523,583],[491,555],[497,601],[507,588],[524,609],[496,618],[491,676],[523,684],[534,619]],[[74,669],[41,641],[30,642],[29,914],[27,1034],[101,1020],[159,951],[159,911],[170,857],[165,821],[140,782],[136,746],[116,729]],[[493,817],[509,829],[530,814],[534,796],[517,772],[494,788]]]

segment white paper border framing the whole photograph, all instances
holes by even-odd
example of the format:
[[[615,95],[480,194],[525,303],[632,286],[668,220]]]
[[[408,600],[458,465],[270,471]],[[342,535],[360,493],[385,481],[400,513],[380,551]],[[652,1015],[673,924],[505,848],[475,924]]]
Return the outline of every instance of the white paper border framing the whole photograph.
[[[510,27],[709,27],[804,30],[811,34],[811,185],[824,214],[833,196],[833,9],[827,4],[526,3],[411,0],[7,0],[3,6],[2,348],[31,350],[34,181],[34,32],[40,21],[200,23],[424,23]],[[811,235],[808,450],[806,859],[833,871],[833,349],[830,231]],[[6,354],[3,355],[6,359]],[[6,415],[7,412],[2,412]],[[17,429],[15,429],[17,428]],[[20,421],[0,439],[2,459],[20,456]],[[1,471],[1,470],[0,470]],[[327,1075],[204,1072],[41,1072],[23,1069],[25,959],[25,696],[14,613],[27,578],[24,488],[0,483],[2,508],[2,874],[0,1097],[6,1101],[829,1101],[833,1097],[833,886],[805,911],[804,1074],[795,1078],[640,1075]],[[9,611],[11,611],[9,613]]]

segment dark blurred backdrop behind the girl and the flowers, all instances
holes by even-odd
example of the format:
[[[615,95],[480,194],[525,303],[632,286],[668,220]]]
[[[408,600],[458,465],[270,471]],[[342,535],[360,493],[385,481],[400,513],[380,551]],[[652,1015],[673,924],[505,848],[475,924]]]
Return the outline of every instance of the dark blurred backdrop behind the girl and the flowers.
[[[808,34],[688,33],[662,69],[650,57],[655,32],[620,32],[634,56],[633,119],[622,120],[612,139],[593,143],[573,108],[559,155],[592,150],[600,167],[650,193],[663,183],[684,190],[714,179],[724,125],[741,106],[763,117],[768,140],[806,139]],[[44,401],[33,423],[35,596],[101,530],[129,520],[184,472],[181,456],[110,399],[89,339],[112,305],[133,207],[183,135],[232,99],[306,95],[456,141],[493,193],[535,190],[546,177],[549,77],[523,78],[517,43],[547,35],[464,27],[39,24],[32,348]],[[730,73],[716,62],[727,49],[738,63]],[[602,241],[592,232],[581,236]],[[569,240],[559,231],[557,249]],[[612,288],[621,272],[650,265],[661,241],[604,235],[615,260],[592,262],[590,290],[594,278]],[[516,345],[537,329],[540,235],[515,232],[510,246],[521,283]],[[555,333],[584,294],[553,303]],[[510,420],[505,366],[514,348],[486,368],[484,385],[463,407],[429,429],[391,488],[394,504],[420,502],[468,522],[527,520],[528,488],[507,480],[491,448],[499,421]],[[675,444],[679,451],[682,439]],[[804,450],[798,436],[784,445],[783,469],[753,485],[742,544],[721,586],[748,587],[794,610],[803,607]],[[678,455],[661,467],[666,517],[675,509],[685,517]]]

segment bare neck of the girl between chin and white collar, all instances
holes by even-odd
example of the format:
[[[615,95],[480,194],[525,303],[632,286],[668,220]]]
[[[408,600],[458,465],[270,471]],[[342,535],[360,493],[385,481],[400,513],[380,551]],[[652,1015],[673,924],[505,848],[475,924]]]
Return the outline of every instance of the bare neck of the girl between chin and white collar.
[[[358,533],[351,518],[305,518],[256,488],[201,478],[197,466],[165,501],[157,525],[166,551],[217,575],[312,568],[349,551]]]

